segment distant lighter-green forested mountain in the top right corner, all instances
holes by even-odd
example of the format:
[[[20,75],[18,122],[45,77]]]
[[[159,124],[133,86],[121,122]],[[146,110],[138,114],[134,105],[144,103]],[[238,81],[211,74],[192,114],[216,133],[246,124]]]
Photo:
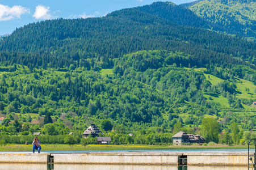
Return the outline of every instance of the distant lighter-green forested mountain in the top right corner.
[[[224,33],[256,40],[255,1],[205,0],[192,6],[182,6],[188,6],[196,15],[218,27],[223,27]]]

